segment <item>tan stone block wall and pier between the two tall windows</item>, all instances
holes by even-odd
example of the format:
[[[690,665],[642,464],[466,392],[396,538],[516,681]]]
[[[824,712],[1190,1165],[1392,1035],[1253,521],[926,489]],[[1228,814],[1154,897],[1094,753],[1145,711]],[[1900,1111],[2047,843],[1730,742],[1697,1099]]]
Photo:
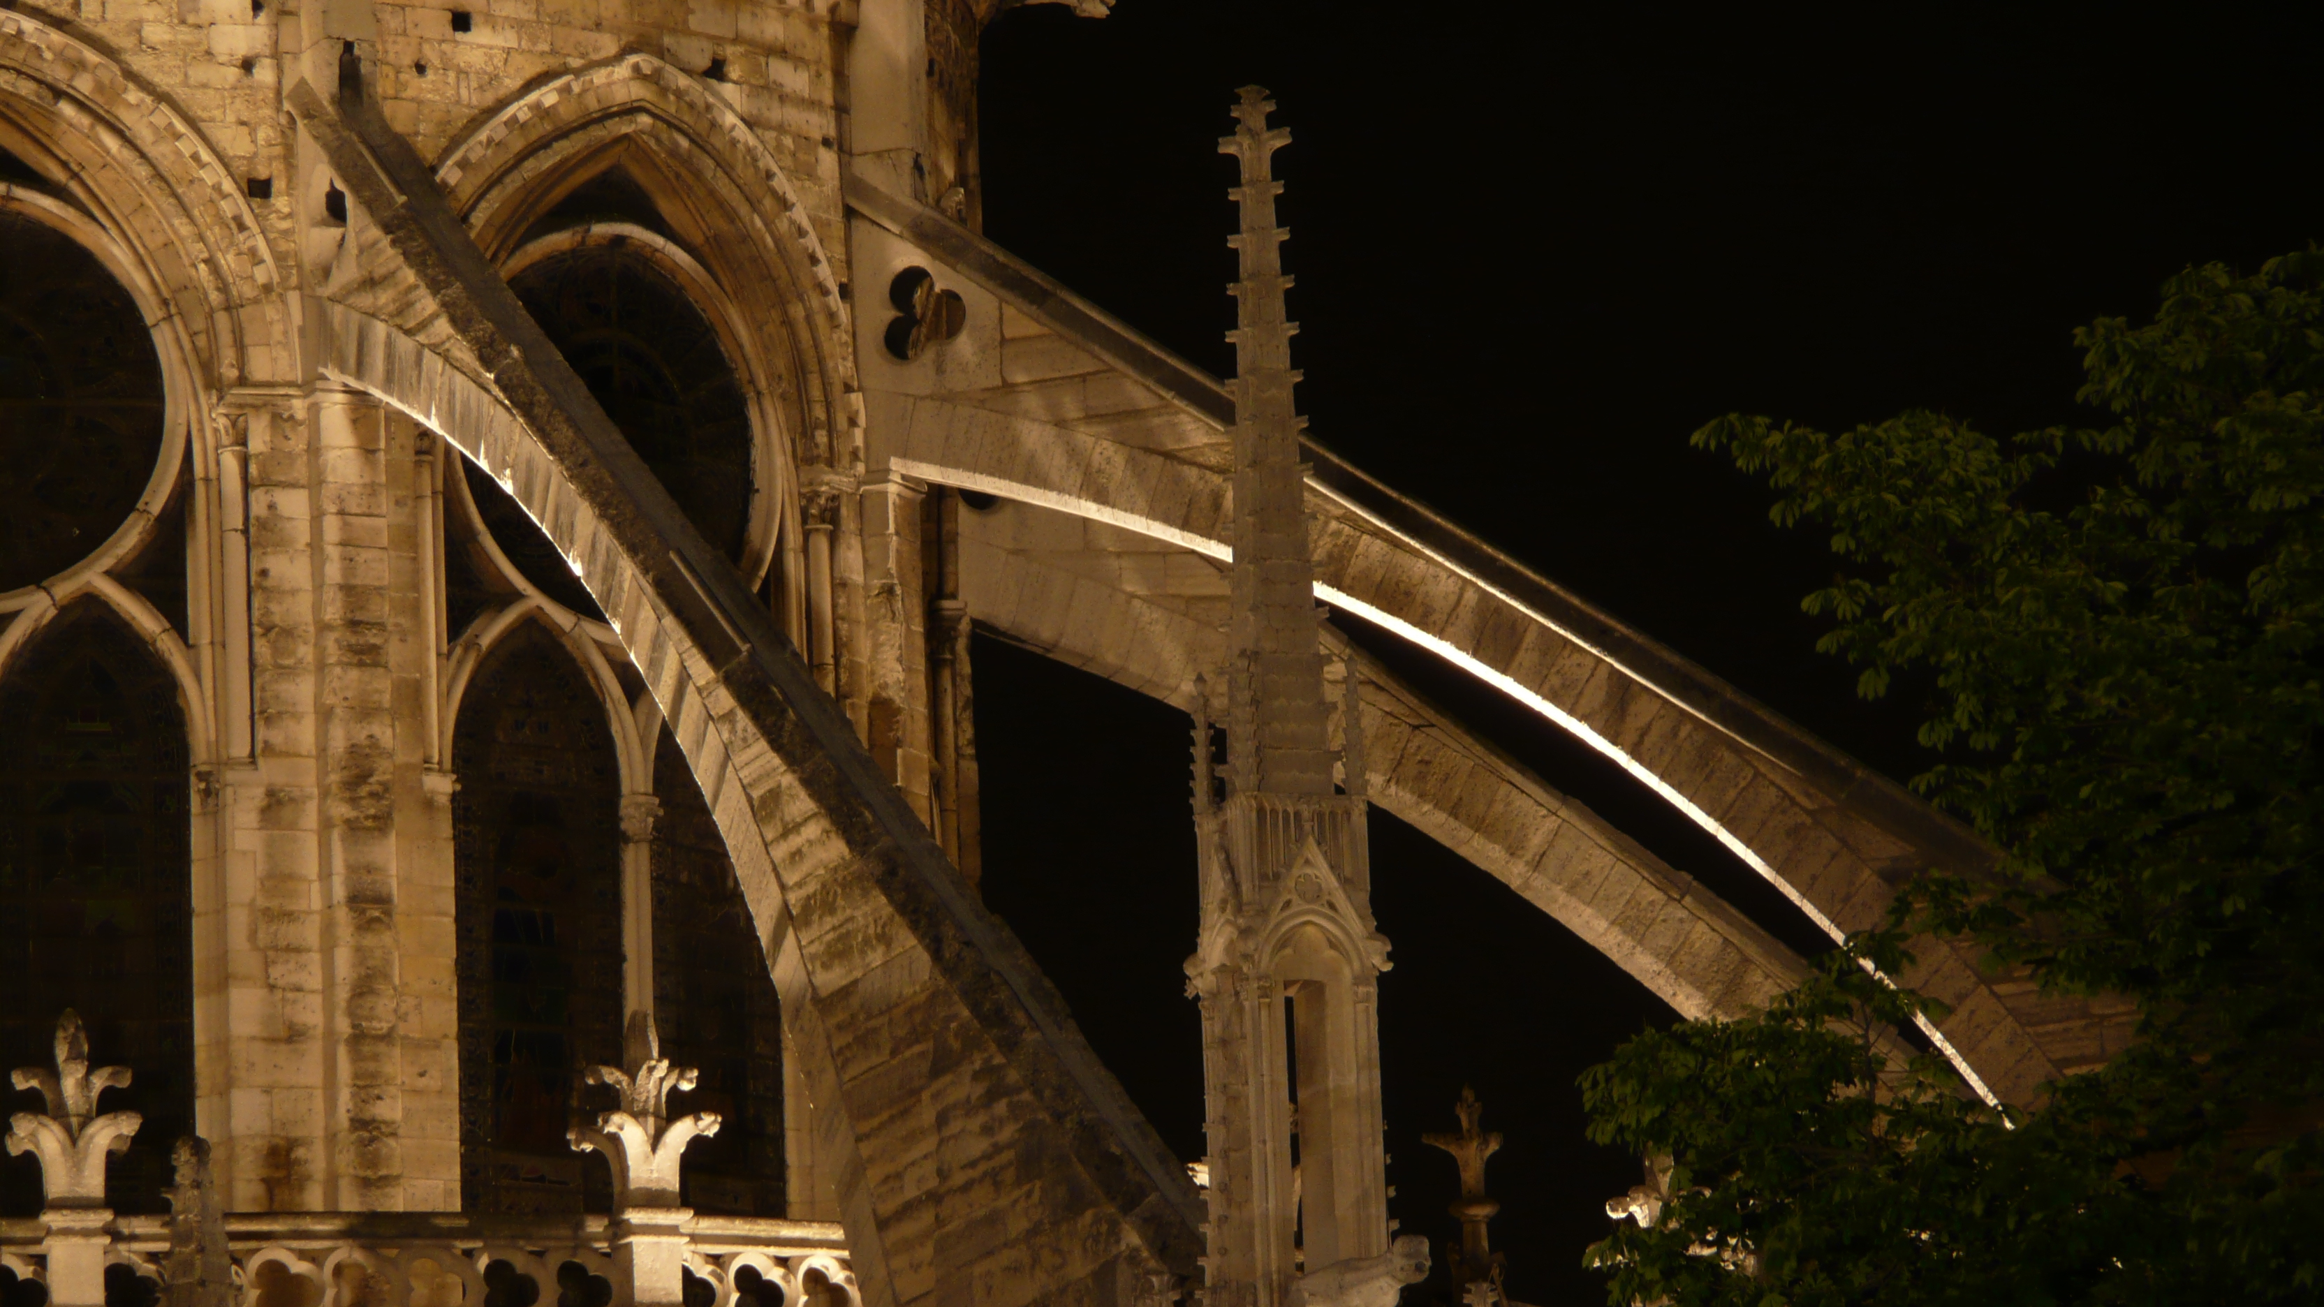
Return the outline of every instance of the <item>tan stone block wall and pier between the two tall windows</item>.
[[[655,53],[700,74],[755,130],[825,249],[844,251],[837,86],[855,0],[16,0],[9,9],[114,60],[193,130],[228,174],[216,181],[246,198],[279,272],[272,302],[237,312],[304,323],[302,351],[318,344],[302,291],[330,279],[349,214],[284,93],[300,79],[328,91],[349,40],[386,116],[423,158],[528,84],[618,51]],[[0,86],[0,100],[16,86]],[[107,84],[84,77],[79,93],[102,100]],[[119,112],[137,114],[132,102]],[[137,205],[112,191],[107,200]],[[188,300],[216,302],[221,272],[232,270],[188,265],[158,244],[167,219],[128,221],[165,293],[191,286]],[[200,237],[230,251],[237,233]],[[198,895],[211,905],[198,921],[200,1130],[221,1144],[232,1209],[453,1209],[449,798],[458,779],[442,767],[430,714],[446,635],[425,621],[437,549],[423,533],[437,526],[421,453],[432,453],[432,437],[367,395],[316,384],[311,353],[286,356],[251,328],[237,335],[195,319],[191,393],[181,393],[198,428],[193,458],[246,470],[246,481],[216,493],[218,521],[249,540],[246,570],[207,540],[191,551],[198,567],[214,567],[193,579],[198,593],[242,584],[249,593],[246,626],[223,630],[225,651],[205,674],[246,667],[239,735],[251,742],[246,754],[198,763],[216,779],[195,837],[195,865],[216,879]],[[913,714],[925,705],[911,705],[906,721]],[[906,760],[925,772],[925,747]]]

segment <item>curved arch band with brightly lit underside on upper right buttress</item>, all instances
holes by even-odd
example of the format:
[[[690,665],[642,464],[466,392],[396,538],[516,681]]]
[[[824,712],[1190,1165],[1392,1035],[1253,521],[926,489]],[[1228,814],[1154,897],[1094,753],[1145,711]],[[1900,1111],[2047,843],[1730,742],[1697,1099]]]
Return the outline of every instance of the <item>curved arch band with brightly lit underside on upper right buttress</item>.
[[[951,400],[871,395],[871,407],[895,419],[874,430],[890,440],[885,463],[897,472],[1136,530],[1206,558],[1232,558],[1227,481],[1208,467]],[[1831,805],[1801,777],[1769,767],[1764,756],[1734,749],[1731,735],[1443,558],[1380,523],[1334,514],[1343,505],[1313,484],[1308,502],[1318,600],[1413,640],[1606,754],[1743,856],[1834,937],[1871,926],[1887,907],[1892,891],[1880,872],[1910,858],[1910,844]],[[1534,681],[1513,674],[1511,665],[1564,677]],[[1587,698],[1576,702],[1576,693]],[[1699,774],[1671,763],[1690,763]],[[1699,781],[1724,786],[1722,802],[1703,802]],[[1924,1028],[1978,1093],[2024,1102],[2057,1074],[2057,1063],[1968,958],[1934,940],[1922,940],[1920,954],[1924,960],[1899,979],[1954,1007],[1948,1021],[1924,1021]]]

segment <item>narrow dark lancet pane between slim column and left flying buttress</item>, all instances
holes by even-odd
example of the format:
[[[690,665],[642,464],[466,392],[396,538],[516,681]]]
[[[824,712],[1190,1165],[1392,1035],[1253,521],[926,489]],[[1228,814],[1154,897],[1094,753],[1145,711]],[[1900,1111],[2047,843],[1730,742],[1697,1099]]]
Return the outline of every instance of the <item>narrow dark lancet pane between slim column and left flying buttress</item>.
[[[702,788],[662,733],[653,754],[653,1012],[662,1054],[700,1067],[672,1112],[718,1112],[686,1149],[686,1205],[783,1214],[783,1023],[774,977]]]

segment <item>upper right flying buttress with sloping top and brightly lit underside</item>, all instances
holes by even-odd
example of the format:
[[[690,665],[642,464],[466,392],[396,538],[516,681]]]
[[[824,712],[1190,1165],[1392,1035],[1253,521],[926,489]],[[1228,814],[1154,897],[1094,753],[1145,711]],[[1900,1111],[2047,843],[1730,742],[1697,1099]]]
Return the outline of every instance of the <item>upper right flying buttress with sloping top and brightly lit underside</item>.
[[[1227,391],[1199,367],[939,214],[851,177],[848,207],[971,293],[983,386],[865,363],[869,467],[1174,542],[1229,549]],[[983,333],[983,337],[976,337]],[[1569,730],[1715,835],[1834,937],[1873,926],[1920,865],[1996,854],[1894,781],[1306,442],[1315,595],[1404,635]],[[2136,1012],[1980,974],[1920,940],[1896,977],[1952,1007],[1929,1035],[1989,1098],[2031,1102],[2113,1056]]]

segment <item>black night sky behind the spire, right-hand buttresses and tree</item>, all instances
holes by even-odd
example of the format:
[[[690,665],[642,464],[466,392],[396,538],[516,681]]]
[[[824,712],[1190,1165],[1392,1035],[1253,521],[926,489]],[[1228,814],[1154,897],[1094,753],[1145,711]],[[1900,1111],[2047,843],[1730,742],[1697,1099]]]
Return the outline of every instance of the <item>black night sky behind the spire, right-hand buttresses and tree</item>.
[[[2289,9],[2289,7],[2284,7]],[[2324,235],[2317,21],[2205,7],[1880,26],[1762,9],[1122,0],[1020,7],[983,42],[985,233],[1225,374],[1236,86],[1278,156],[1315,435],[1882,770],[1927,765],[1913,698],[1813,654],[1831,574],[1769,493],[1690,451],[1722,412],[1815,426],[1945,409],[1994,435],[2087,421],[2071,328],[2147,316],[2203,260]],[[1343,628],[1346,619],[1339,619]],[[1794,947],[1789,907],[1650,793],[1494,691],[1350,628],[1471,728]],[[976,647],[988,900],[1183,1156],[1202,1154],[1185,716]],[[1455,1233],[1473,1084],[1508,1137],[1494,1247],[1527,1302],[1580,1270],[1631,1158],[1573,1077],[1671,1012],[1427,837],[1373,819],[1392,1214]],[[1092,926],[1104,923],[1104,926]]]

